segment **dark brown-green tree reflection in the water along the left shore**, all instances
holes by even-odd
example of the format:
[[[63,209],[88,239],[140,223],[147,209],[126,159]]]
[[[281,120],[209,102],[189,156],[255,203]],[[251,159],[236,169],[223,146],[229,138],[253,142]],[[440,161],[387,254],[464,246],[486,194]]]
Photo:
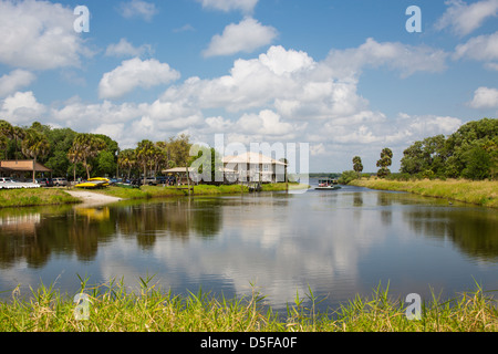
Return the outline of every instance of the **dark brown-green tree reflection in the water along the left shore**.
[[[170,199],[123,207],[17,209],[0,214],[0,268],[19,261],[45,266],[52,254],[96,258],[98,244],[117,236],[136,238],[139,248],[154,248],[157,238],[188,240],[191,235],[216,237],[221,223],[219,199]]]

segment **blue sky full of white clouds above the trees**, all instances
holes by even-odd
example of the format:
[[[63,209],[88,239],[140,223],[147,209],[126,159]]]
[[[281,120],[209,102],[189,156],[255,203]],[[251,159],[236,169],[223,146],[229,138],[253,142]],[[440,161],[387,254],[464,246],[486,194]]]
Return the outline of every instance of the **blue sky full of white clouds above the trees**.
[[[397,171],[498,113],[498,0],[0,0],[0,33],[1,118],[121,148],[298,146],[319,173],[390,147]]]

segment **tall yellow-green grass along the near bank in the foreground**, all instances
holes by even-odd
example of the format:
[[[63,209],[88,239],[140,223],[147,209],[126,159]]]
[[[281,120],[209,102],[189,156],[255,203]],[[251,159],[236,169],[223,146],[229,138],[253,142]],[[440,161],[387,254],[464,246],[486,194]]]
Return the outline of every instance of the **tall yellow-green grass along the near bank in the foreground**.
[[[122,282],[83,287],[89,295],[86,320],[77,321],[73,296],[41,285],[24,299],[19,289],[0,301],[1,332],[496,332],[497,302],[480,288],[440,302],[422,304],[419,320],[406,317],[404,301],[377,288],[369,299],[356,296],[335,311],[320,313],[313,294],[295,299],[287,313],[264,306],[253,290],[241,299],[199,291],[188,296],[163,292],[151,279],[129,291]],[[304,304],[304,301],[308,301]],[[81,304],[80,308],[84,308]],[[85,315],[77,312],[76,314]]]

